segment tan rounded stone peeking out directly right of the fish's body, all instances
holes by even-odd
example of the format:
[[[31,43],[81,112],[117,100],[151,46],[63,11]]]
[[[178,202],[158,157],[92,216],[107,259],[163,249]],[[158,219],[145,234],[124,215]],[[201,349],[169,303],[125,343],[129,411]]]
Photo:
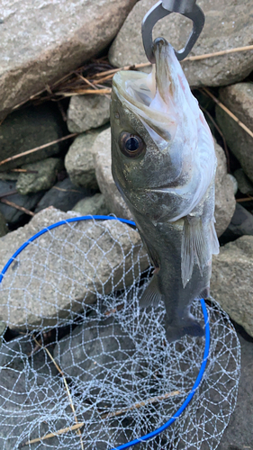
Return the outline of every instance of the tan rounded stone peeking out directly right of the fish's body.
[[[235,211],[236,200],[234,196],[234,183],[227,173],[227,161],[223,148],[214,142],[216,157],[218,160],[215,175],[215,229],[220,237],[229,226]]]

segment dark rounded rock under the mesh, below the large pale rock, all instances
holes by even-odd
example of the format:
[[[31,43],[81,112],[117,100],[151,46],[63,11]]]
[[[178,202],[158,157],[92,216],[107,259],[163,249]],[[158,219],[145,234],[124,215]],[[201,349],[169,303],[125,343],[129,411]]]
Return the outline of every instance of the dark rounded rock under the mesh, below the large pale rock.
[[[78,377],[80,382],[105,379],[125,384],[130,381],[131,356],[135,351],[132,338],[109,318],[78,326],[70,337],[59,341],[54,358],[65,374]]]

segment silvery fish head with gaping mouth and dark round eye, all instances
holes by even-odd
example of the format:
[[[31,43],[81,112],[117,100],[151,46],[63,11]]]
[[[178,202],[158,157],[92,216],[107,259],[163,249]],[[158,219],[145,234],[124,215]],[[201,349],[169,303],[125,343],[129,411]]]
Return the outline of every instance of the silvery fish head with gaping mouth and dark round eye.
[[[184,193],[193,179],[202,120],[212,137],[172,46],[155,40],[154,54],[150,74],[120,71],[113,76],[112,172],[129,205],[147,212],[151,201],[158,215],[158,190],[179,187]]]

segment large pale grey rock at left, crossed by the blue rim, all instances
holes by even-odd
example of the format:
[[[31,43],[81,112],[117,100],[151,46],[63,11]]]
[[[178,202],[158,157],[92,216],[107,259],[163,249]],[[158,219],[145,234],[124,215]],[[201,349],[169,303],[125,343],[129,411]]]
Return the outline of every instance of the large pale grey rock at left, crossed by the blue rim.
[[[54,208],[36,214],[0,239],[1,266],[39,230],[77,216]],[[64,322],[70,311],[72,316],[83,311],[98,293],[121,289],[123,279],[131,284],[132,273],[139,274],[139,260],[141,271],[149,266],[138,232],[118,220],[99,223],[102,226],[91,221],[63,225],[25,247],[0,284],[0,320],[14,329],[51,327]]]

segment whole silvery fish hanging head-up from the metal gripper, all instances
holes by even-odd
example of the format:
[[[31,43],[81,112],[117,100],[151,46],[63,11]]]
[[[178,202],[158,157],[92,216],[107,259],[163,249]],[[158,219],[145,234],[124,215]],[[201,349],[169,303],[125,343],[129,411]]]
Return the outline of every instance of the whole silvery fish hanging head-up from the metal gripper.
[[[173,47],[153,42],[150,74],[119,71],[111,98],[112,174],[153,275],[140,308],[164,302],[168,342],[203,337],[192,302],[210,295],[217,166],[212,133]]]

